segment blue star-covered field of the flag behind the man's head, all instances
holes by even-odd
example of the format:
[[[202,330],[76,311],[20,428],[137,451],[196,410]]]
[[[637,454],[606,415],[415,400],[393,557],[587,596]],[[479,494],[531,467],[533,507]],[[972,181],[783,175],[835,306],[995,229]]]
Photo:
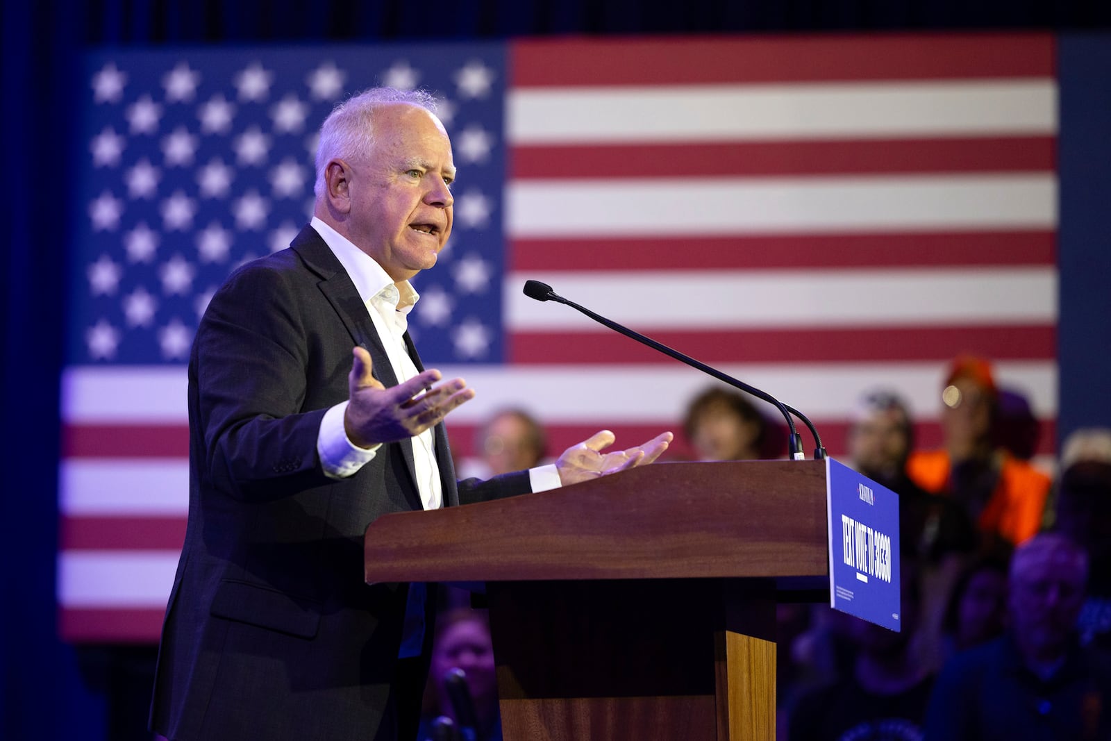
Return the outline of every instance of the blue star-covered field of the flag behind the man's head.
[[[380,84],[440,99],[459,169],[454,228],[413,280],[410,332],[426,363],[501,362],[504,57],[497,43],[88,56],[69,362],[186,362],[231,270],[311,218],[321,121]]]

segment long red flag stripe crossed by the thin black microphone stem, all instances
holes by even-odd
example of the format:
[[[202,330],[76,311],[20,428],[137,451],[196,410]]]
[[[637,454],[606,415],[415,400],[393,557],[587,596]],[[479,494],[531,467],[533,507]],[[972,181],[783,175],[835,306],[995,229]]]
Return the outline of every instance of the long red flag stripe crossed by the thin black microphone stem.
[[[742,330],[642,330],[652,339],[709,363],[945,361],[964,352],[994,360],[1052,360],[1052,324],[982,327],[829,327]],[[521,366],[558,363],[672,364],[644,346],[597,332],[516,332],[509,358]]]

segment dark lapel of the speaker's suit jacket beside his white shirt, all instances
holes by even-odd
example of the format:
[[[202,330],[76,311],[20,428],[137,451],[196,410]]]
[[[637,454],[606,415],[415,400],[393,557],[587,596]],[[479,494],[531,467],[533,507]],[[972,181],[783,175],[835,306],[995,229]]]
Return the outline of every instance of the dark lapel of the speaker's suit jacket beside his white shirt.
[[[332,253],[328,243],[310,226],[301,230],[301,233],[297,236],[297,239],[293,240],[290,247],[301,257],[310,270],[320,276],[321,280],[318,284],[321,293],[324,294],[332,309],[336,310],[340,321],[343,322],[343,326],[351,334],[351,340],[370,353],[370,360],[373,363],[371,372],[374,378],[387,388],[397,385],[398,377],[393,372],[390,357],[386,354],[386,346],[382,344],[382,339],[374,329],[374,322],[370,318],[367,304],[362,302],[362,297],[359,296],[354,283],[351,282],[351,277],[348,276],[347,270],[343,269],[339,259]],[[406,337],[408,338],[408,334]],[[408,341],[408,339],[407,347],[412,347],[412,342]],[[418,363],[417,367],[420,368],[420,364]],[[409,488],[408,494],[411,500],[410,503],[414,505],[414,509],[423,509],[420,501],[420,492],[417,488],[413,441],[411,439],[402,440],[393,444],[397,444],[401,451],[401,457],[404,459],[406,468],[409,471],[409,480],[412,484]]]

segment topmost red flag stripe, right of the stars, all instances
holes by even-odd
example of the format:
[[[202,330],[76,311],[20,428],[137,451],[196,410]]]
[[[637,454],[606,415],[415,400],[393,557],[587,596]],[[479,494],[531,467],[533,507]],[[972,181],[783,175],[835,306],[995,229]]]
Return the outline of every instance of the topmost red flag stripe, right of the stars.
[[[513,87],[1021,78],[1054,74],[1049,33],[529,39]]]

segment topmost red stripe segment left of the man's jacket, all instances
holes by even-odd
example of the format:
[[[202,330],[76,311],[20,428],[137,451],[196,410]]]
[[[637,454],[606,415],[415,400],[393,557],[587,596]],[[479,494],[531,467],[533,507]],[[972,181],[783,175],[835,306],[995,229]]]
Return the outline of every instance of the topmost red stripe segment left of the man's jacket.
[[[188,424],[67,424],[62,458],[188,458]]]

